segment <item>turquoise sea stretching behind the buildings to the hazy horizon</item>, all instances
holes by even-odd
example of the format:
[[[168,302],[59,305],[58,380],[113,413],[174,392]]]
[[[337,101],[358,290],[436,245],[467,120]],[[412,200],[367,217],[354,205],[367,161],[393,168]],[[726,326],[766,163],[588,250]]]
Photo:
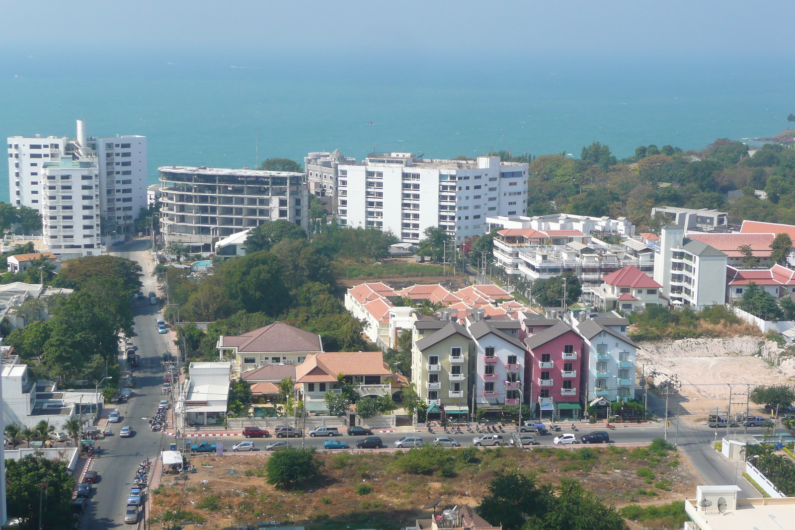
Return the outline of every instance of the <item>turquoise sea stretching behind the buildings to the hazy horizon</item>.
[[[161,165],[254,167],[332,149],[358,159],[373,150],[579,157],[601,141],[620,158],[637,145],[700,149],[717,137],[772,136],[795,112],[792,68],[762,63],[276,71],[159,65],[85,77],[0,68],[0,137],[72,136],[76,118],[92,135],[143,134],[154,183]]]

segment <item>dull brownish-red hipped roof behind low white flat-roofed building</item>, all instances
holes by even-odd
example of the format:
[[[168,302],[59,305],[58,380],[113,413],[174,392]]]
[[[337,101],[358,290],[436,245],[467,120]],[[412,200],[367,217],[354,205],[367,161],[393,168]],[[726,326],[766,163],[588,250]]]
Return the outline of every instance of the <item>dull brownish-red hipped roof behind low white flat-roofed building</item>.
[[[238,353],[323,351],[320,335],[283,322],[274,322],[243,335],[222,335],[219,346],[237,346]]]

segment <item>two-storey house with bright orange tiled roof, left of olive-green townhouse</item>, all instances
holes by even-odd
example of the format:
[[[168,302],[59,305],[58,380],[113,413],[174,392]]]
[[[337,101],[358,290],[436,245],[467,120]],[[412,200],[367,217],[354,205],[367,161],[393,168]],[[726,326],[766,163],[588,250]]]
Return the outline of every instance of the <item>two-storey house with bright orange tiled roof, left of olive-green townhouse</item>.
[[[309,355],[303,364],[296,367],[296,386],[307,411],[328,410],[325,396],[329,392],[339,393],[337,381],[340,373],[346,381],[353,383],[361,397],[391,397],[393,394],[394,374],[384,362],[382,352],[325,351]]]

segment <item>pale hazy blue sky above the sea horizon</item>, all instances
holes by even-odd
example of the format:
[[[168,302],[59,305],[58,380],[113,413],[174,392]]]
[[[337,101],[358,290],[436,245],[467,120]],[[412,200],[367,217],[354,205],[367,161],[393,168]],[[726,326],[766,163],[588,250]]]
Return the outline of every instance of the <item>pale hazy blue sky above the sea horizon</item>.
[[[743,59],[789,53],[795,2],[3,2],[0,62],[45,50],[59,68],[129,56],[349,58],[400,69],[448,60]],[[107,52],[108,46],[114,53]],[[53,47],[56,48],[53,50]],[[54,53],[52,53],[54,52]],[[405,61],[397,64],[394,61]],[[55,62],[53,60],[53,62]],[[371,65],[374,65],[370,62]]]

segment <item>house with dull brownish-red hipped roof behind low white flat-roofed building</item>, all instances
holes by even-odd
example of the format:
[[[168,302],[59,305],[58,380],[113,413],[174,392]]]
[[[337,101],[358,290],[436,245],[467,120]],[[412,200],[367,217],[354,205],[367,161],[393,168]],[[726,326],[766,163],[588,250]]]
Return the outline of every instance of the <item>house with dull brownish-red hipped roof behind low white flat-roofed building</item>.
[[[316,333],[274,322],[242,335],[221,335],[215,348],[241,373],[268,364],[301,364],[309,354],[323,351],[323,342]]]

